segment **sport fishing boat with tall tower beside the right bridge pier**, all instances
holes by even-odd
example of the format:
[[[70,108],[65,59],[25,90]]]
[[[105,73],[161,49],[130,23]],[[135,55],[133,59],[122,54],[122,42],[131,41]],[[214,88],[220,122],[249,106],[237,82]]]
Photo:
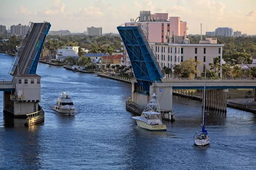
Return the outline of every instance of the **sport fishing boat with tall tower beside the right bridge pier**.
[[[166,125],[163,124],[159,103],[156,94],[152,94],[150,100],[142,112],[141,116],[134,116],[137,125],[146,130],[166,130]]]

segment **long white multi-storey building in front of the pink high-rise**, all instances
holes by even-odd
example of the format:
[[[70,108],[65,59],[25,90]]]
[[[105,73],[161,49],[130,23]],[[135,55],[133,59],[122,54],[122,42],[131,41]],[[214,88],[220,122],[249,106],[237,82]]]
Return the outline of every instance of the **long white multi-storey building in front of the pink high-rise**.
[[[173,68],[174,65],[192,58],[201,61],[201,64],[198,65],[201,73],[204,65],[210,69],[209,63],[212,63],[215,57],[219,57],[220,65],[222,65],[224,44],[217,44],[217,38],[208,38],[206,41],[200,41],[199,44],[151,43],[151,46],[162,67]],[[222,71],[219,73],[219,76],[221,75]]]

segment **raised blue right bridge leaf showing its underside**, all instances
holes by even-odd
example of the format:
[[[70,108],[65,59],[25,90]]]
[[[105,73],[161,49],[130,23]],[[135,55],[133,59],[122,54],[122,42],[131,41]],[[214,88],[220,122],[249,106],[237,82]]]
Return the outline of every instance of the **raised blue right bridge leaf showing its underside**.
[[[119,26],[117,30],[125,44],[137,82],[142,91],[149,91],[152,82],[162,82],[165,74],[151,46],[138,26]]]

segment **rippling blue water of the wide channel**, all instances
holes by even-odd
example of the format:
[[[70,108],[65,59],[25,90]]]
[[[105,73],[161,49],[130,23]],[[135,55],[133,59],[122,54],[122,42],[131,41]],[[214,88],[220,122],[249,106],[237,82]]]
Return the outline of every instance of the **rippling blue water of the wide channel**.
[[[13,58],[0,54],[0,79],[12,78],[7,73]],[[0,169],[256,169],[256,114],[210,112],[211,144],[196,147],[192,137],[201,129],[201,102],[174,96],[176,121],[166,121],[165,132],[149,132],[125,110],[131,85],[41,63],[37,74],[45,111],[41,125],[26,128],[24,119],[4,114],[0,92]],[[74,116],[50,109],[62,91],[73,98]]]

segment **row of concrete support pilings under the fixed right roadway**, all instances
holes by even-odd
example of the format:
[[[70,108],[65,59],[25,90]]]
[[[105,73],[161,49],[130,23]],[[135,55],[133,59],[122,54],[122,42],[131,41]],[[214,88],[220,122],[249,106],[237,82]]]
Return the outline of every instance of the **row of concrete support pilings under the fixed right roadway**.
[[[227,92],[228,89],[207,90],[206,108],[227,113]],[[204,100],[202,101],[202,105],[204,105]]]

